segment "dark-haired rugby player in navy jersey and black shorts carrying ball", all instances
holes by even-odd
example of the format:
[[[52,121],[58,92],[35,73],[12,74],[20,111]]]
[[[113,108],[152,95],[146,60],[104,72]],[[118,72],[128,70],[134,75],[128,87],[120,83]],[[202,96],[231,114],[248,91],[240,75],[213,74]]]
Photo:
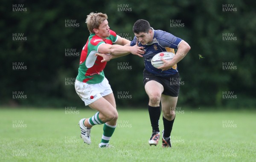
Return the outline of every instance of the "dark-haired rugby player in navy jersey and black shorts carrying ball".
[[[177,104],[180,85],[177,63],[182,60],[190,50],[186,41],[175,37],[169,32],[154,30],[146,20],[137,20],[133,26],[134,39],[130,46],[143,46],[145,54],[143,55],[145,69],[143,71],[143,82],[145,92],[149,97],[148,113],[152,127],[151,137],[148,140],[149,145],[157,145],[160,139],[159,119],[161,108],[163,111],[162,147],[170,148],[171,132],[175,120],[175,107]],[[175,50],[177,49],[176,53]],[[155,68],[151,64],[151,59],[159,52],[173,52],[174,58],[171,61],[162,59],[163,66]],[[102,61],[109,61],[122,55],[104,55]]]

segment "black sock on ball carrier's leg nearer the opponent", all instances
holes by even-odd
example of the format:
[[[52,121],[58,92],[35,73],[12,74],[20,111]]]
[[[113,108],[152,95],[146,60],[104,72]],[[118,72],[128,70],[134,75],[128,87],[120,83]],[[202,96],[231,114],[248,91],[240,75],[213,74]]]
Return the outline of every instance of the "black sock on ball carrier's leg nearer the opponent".
[[[151,122],[151,127],[152,127],[152,132],[160,132],[159,131],[159,119],[161,115],[161,110],[160,106],[158,107],[151,107],[148,105],[148,113],[149,113],[149,118]]]

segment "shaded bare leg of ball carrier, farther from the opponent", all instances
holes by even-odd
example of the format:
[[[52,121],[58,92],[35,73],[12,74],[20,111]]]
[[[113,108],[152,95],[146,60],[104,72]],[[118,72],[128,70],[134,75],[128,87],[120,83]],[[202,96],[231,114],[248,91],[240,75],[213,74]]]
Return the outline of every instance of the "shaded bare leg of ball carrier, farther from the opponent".
[[[172,116],[175,114],[175,107],[177,105],[178,97],[172,97],[169,95],[161,96],[162,111],[165,116]]]

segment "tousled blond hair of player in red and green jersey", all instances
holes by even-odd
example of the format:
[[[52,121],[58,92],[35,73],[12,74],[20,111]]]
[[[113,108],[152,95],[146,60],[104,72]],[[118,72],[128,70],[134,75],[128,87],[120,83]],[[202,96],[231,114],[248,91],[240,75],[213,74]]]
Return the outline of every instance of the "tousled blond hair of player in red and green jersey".
[[[87,28],[90,33],[94,33],[93,29],[99,29],[99,25],[102,23],[102,21],[108,19],[107,14],[99,13],[93,13],[87,15],[85,23],[87,23]]]

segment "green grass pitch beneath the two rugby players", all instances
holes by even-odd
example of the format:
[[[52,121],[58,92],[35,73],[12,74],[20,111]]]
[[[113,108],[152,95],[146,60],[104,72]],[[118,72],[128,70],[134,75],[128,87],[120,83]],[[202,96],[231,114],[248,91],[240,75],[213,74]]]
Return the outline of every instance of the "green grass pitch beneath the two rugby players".
[[[91,145],[80,138],[79,119],[95,113],[89,108],[0,109],[0,161],[256,161],[256,111],[180,111],[171,149],[148,145],[151,126],[147,110],[118,111],[119,122],[110,141],[114,148],[98,148],[102,125],[93,127]]]

